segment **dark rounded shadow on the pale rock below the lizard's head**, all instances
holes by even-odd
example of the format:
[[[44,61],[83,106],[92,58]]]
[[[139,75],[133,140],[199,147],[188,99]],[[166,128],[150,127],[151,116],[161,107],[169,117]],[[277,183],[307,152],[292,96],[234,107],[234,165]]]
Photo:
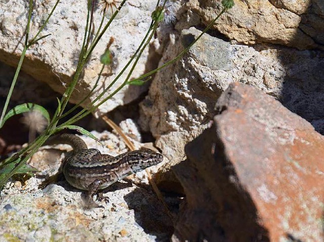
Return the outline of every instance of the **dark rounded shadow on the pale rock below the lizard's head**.
[[[146,233],[156,236],[155,241],[170,241],[174,231],[172,221],[166,214],[163,204],[151,190],[137,187],[124,199],[128,207],[134,210],[136,223]]]

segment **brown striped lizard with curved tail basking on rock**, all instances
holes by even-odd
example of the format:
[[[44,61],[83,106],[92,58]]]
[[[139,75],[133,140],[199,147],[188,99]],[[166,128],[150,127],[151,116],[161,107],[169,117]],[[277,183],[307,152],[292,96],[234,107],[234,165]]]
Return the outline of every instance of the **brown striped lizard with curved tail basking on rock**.
[[[147,148],[116,157],[101,154],[97,149],[88,149],[86,142],[74,134],[58,134],[46,142],[57,143],[73,148],[72,156],[63,162],[63,174],[71,186],[88,192],[89,202],[98,190],[163,161],[163,155]]]

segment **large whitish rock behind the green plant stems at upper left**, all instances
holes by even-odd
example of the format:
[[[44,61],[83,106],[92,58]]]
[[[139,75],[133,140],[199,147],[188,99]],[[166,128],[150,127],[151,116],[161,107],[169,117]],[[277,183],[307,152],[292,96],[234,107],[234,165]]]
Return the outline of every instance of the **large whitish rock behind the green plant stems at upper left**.
[[[149,27],[150,14],[154,10],[155,4],[156,1],[151,0],[127,1],[125,7],[94,49],[90,61],[75,87],[76,90],[72,95],[71,102],[77,103],[82,100],[92,89],[102,66],[99,61],[100,55],[104,53],[110,37],[114,38],[110,50],[114,53],[118,65],[112,70],[112,73],[110,73],[109,68],[104,69],[106,75],[101,77],[95,94],[87,100],[85,105],[94,100],[115,78],[116,74],[124,68]],[[54,2],[48,1],[36,1],[34,3],[30,36],[38,31],[53,5]],[[101,7],[98,7],[94,14],[95,28],[99,27],[101,21],[100,11]],[[24,42],[24,39],[21,38],[26,27],[27,13],[28,2],[26,1],[0,2],[0,61],[8,65],[16,66],[21,55],[22,43]],[[38,41],[27,51],[23,70],[35,79],[48,83],[54,90],[63,93],[76,68],[84,37],[86,17],[87,2],[61,1],[42,32],[42,35],[51,35]],[[148,50],[144,51],[132,77],[139,76],[144,73],[145,69],[151,68],[146,63],[147,56]],[[126,75],[122,75],[113,85],[112,90],[123,82],[125,77]],[[144,90],[146,90],[145,86],[127,86],[123,91],[118,92],[113,99],[102,105],[100,111],[107,112],[118,105],[129,103],[138,98]],[[106,92],[104,96],[111,92]]]

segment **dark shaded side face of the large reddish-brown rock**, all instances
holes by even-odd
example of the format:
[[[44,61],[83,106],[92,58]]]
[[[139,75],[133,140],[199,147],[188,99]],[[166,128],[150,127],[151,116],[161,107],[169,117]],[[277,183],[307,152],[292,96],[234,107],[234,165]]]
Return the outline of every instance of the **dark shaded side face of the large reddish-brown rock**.
[[[173,167],[186,194],[174,234],[180,241],[270,241],[251,196],[231,182],[237,176],[216,132],[213,126],[189,142],[187,160]]]

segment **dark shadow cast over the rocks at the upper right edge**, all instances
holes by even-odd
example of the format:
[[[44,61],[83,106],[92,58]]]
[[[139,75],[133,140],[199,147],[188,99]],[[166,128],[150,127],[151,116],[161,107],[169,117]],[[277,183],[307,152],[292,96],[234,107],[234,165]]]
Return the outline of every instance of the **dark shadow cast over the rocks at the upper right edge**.
[[[278,59],[286,69],[280,102],[324,134],[324,24],[319,3],[319,0],[309,1],[299,24],[299,29],[318,44],[318,49],[307,50],[305,46],[303,51],[282,51]],[[303,42],[303,38],[297,31],[291,42]]]

